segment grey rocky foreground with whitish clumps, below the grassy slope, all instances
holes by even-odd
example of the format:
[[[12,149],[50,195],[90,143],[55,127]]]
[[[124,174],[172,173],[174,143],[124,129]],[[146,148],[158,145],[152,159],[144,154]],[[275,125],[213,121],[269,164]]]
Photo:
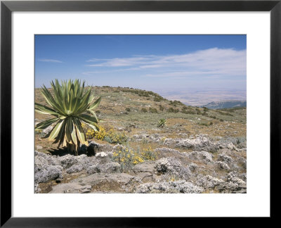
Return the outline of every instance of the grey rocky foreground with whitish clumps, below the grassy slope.
[[[35,151],[35,193],[246,193],[246,142],[199,134],[178,139],[135,134],[131,141],[159,145],[155,160],[122,172],[114,153],[122,145],[98,144],[95,156],[53,156]]]

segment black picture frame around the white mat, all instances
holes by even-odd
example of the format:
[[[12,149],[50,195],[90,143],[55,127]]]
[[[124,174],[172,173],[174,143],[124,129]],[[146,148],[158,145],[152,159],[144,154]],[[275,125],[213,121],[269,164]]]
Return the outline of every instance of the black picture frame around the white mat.
[[[270,11],[270,217],[278,217],[280,167],[281,0],[1,1],[1,227],[164,227],[184,218],[11,217],[11,13],[13,11]],[[258,199],[257,199],[258,200]],[[169,221],[170,222],[170,221]]]

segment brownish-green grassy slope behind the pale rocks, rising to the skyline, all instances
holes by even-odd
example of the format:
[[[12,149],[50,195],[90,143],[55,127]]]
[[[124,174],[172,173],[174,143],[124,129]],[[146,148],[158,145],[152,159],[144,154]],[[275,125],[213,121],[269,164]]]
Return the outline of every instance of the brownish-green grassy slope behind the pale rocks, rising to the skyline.
[[[121,87],[93,87],[93,90],[96,96],[102,96],[97,109],[98,117],[105,120],[101,125],[106,129],[121,130],[129,137],[144,133],[157,133],[171,138],[181,138],[181,133],[185,133],[185,137],[195,134],[209,134],[210,137],[246,137],[246,108],[211,110],[185,106],[180,102],[163,99],[150,91]],[[35,102],[46,105],[39,89],[35,89]],[[148,112],[143,112],[143,109]],[[155,109],[157,113],[154,113]],[[51,116],[35,113],[35,118],[41,121]],[[161,118],[167,120],[167,127],[164,129],[157,127]],[[46,150],[55,148],[47,139],[40,139],[39,135],[35,137],[35,145],[44,146]],[[150,146],[159,147],[153,144]]]

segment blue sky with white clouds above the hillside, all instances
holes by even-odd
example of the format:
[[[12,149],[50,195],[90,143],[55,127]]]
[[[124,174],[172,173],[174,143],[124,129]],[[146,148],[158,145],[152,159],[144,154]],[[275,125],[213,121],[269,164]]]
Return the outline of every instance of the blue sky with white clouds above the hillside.
[[[246,91],[246,44],[246,35],[35,35],[35,87]]]

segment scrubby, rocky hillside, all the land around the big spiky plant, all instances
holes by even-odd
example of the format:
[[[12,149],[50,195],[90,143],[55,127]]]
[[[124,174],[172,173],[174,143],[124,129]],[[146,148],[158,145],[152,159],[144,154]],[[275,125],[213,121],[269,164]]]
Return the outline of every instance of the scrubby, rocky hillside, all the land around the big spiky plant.
[[[186,106],[181,101],[168,101],[151,91],[129,87],[87,89],[101,97],[95,118],[103,121],[98,122],[98,131],[81,121],[80,132],[84,132],[89,146],[80,145],[78,157],[44,139],[49,134],[46,129],[35,129],[35,149],[40,153],[37,162],[44,157],[41,153],[51,156],[46,160],[52,175],[36,175],[42,193],[56,191],[58,181],[71,184],[72,180],[75,187],[83,181],[80,192],[216,193],[244,188],[246,108]],[[54,96],[53,88],[47,90]],[[48,106],[40,89],[35,89],[35,100]],[[85,115],[92,113],[86,111]],[[50,116],[36,113],[36,125],[50,121]],[[51,130],[53,126],[49,126]],[[55,177],[54,170],[58,173]],[[64,178],[60,179],[60,175]],[[94,184],[84,182],[89,175],[102,179]],[[130,179],[125,182],[124,178]],[[237,180],[240,184],[235,189]],[[92,189],[85,189],[89,185]],[[77,190],[70,192],[73,191]]]

